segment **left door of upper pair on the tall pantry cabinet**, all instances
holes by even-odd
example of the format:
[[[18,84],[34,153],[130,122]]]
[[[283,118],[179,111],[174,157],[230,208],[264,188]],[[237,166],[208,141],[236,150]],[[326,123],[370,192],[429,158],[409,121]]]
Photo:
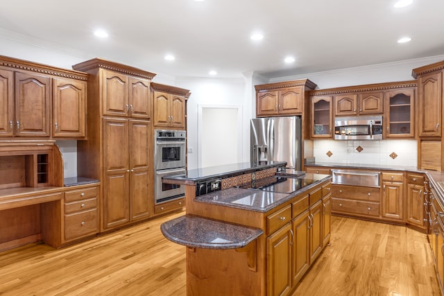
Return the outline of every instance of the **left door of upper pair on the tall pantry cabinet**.
[[[103,71],[103,114],[128,116],[128,76]]]

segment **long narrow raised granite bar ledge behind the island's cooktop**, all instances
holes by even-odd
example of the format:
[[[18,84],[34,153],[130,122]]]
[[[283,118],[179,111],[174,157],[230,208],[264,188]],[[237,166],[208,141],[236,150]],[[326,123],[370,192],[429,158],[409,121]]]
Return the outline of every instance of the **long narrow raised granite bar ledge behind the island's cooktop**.
[[[162,182],[179,185],[196,185],[198,182],[212,180],[215,178],[232,177],[244,173],[285,166],[287,162],[262,162],[259,166],[253,166],[250,162],[239,164],[226,164],[224,166],[210,166],[208,168],[196,168],[188,170],[182,175],[168,175],[162,177]]]

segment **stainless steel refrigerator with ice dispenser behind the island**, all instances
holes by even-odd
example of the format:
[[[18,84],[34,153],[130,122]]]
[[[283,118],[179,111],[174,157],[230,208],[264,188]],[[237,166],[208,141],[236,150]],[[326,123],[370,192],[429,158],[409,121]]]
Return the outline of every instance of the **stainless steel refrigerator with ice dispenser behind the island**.
[[[287,162],[287,168],[300,171],[301,119],[282,116],[251,119],[250,162]]]

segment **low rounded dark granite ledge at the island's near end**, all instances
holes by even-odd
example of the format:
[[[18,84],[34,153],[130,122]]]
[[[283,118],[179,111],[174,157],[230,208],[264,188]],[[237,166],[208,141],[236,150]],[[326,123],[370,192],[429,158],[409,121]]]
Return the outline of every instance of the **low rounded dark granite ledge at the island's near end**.
[[[264,233],[259,228],[194,215],[181,216],[163,223],[160,230],[173,243],[219,250],[245,247]]]

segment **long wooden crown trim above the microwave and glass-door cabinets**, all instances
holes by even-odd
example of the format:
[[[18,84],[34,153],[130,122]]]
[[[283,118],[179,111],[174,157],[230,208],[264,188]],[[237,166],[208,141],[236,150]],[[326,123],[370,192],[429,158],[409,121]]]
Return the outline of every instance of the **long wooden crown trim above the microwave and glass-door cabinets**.
[[[318,89],[310,91],[309,96],[323,96],[355,92],[375,92],[388,89],[400,89],[405,87],[418,87],[418,81],[409,80],[401,82],[375,83],[371,85],[354,85],[350,87],[335,87],[331,89]]]

